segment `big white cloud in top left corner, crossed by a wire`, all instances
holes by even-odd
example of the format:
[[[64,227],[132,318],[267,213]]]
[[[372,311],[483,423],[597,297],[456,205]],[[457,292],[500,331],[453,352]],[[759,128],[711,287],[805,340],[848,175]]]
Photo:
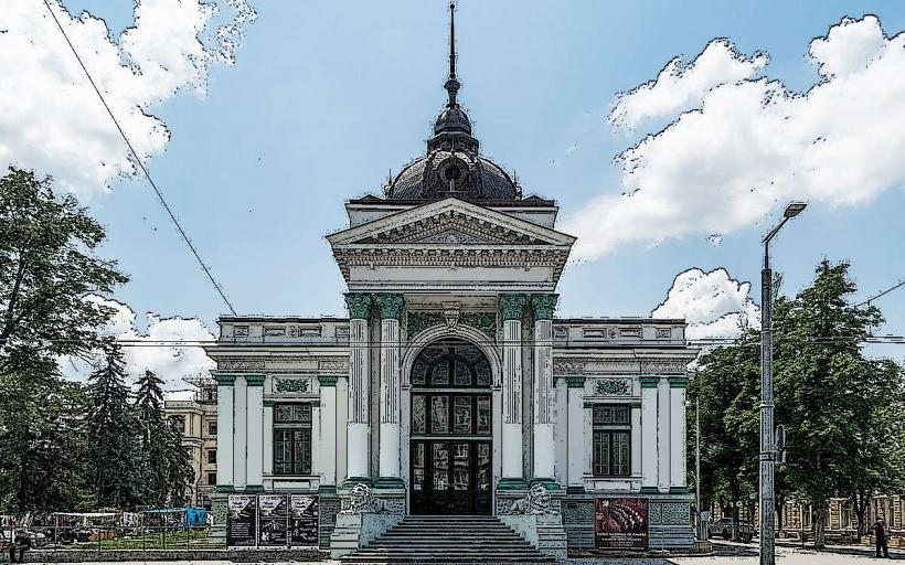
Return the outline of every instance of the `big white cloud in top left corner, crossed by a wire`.
[[[51,7],[142,160],[163,151],[170,132],[153,106],[187,90],[203,94],[212,63],[232,64],[247,0],[228,0],[233,19],[202,42],[219,7],[201,0],[138,0],[135,25],[113,38],[104,20]],[[135,174],[128,148],[66,45],[43,1],[0,6],[0,167],[51,174],[91,198],[117,175]],[[14,77],[14,78],[12,78]]]

